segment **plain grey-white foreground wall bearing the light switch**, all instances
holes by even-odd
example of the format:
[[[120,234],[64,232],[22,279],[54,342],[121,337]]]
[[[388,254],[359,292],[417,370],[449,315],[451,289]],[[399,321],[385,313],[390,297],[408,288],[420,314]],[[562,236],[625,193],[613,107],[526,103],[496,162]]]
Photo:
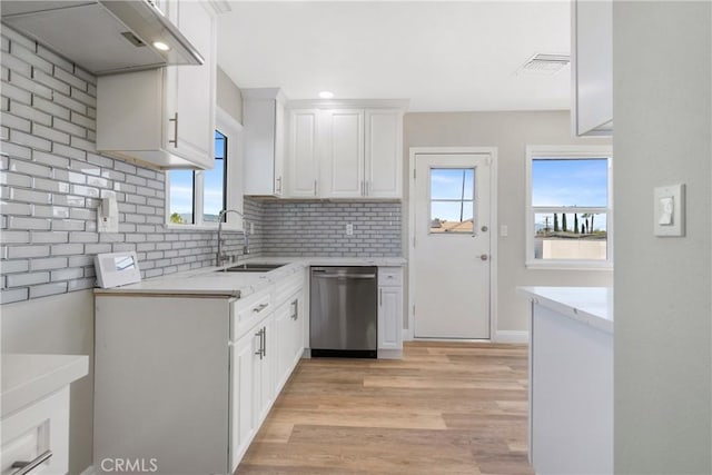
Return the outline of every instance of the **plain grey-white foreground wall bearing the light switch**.
[[[615,473],[712,473],[712,8],[613,2]],[[688,186],[686,236],[653,188]]]

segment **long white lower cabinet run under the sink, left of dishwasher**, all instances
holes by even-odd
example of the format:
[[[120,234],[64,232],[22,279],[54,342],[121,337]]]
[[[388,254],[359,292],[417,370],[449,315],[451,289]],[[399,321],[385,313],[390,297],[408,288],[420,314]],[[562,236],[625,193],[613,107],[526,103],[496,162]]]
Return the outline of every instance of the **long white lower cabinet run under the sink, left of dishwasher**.
[[[116,458],[156,474],[234,473],[304,349],[297,274],[288,295],[278,280],[240,299],[98,291],[97,473],[120,473],[101,467]]]

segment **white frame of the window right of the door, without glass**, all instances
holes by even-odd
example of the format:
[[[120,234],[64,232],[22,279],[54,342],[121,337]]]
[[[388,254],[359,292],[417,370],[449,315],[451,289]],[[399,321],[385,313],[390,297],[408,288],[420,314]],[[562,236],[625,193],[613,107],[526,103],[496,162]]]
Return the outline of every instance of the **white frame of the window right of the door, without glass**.
[[[534,160],[546,159],[595,159],[605,158],[607,160],[607,206],[603,207],[535,207],[532,205],[532,165]],[[527,269],[552,269],[552,270],[613,270],[613,147],[601,146],[527,146],[526,147],[526,237],[525,237],[525,267]],[[601,212],[606,214],[606,259],[536,259],[534,257],[534,229],[537,214],[566,212]]]

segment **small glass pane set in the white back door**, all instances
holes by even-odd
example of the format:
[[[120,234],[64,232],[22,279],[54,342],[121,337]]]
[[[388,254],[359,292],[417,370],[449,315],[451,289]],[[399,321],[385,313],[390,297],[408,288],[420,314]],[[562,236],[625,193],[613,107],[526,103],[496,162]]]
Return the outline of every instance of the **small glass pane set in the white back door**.
[[[475,169],[431,169],[431,232],[472,234]]]

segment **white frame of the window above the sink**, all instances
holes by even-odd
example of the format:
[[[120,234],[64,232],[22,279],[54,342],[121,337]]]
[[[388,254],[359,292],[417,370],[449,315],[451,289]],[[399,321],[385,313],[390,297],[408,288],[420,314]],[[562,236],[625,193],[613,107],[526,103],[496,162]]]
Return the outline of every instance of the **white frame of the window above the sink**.
[[[228,209],[237,209],[243,212],[243,126],[227,113],[222,108],[216,108],[216,121],[214,130],[222,133],[227,139],[227,157],[225,159],[225,167],[227,172],[224,177],[225,197]],[[215,132],[214,132],[215,135]],[[215,147],[215,137],[212,138],[212,147]],[[212,150],[215,156],[215,149]],[[170,174],[169,170],[165,174],[166,188],[165,188],[165,215],[166,215],[166,228],[168,229],[215,229],[218,228],[216,221],[204,221],[204,171],[195,170],[194,174],[194,188],[192,188],[192,224],[177,225],[170,222]],[[234,212],[226,215],[226,222],[222,225],[222,229],[231,231],[244,230],[244,219],[236,216]]]

